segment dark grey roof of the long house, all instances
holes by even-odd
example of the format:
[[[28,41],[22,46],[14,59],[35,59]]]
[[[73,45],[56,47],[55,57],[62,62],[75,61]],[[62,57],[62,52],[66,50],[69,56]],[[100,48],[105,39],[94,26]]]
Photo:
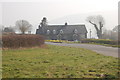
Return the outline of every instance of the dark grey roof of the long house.
[[[44,31],[46,33],[46,30],[56,30],[57,33],[59,33],[58,31],[60,31],[61,29],[63,30],[64,33],[69,34],[69,33],[73,33],[75,29],[77,29],[78,33],[87,33],[86,27],[85,25],[47,25],[44,26]]]

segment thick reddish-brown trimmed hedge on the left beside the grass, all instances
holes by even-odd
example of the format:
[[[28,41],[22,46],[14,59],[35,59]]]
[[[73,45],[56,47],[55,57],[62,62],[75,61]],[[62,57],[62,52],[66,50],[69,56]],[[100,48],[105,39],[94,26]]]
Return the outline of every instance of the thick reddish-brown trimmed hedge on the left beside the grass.
[[[44,44],[40,35],[4,35],[2,36],[3,48],[34,47]]]

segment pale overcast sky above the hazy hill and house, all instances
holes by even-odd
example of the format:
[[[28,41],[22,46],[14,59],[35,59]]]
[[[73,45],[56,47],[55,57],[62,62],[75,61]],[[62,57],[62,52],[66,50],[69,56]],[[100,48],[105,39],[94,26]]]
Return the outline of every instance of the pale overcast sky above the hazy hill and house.
[[[117,11],[119,0],[1,0],[0,24],[14,25],[16,20],[28,20],[34,28],[42,17],[48,22],[63,16]],[[117,13],[116,13],[117,15]]]

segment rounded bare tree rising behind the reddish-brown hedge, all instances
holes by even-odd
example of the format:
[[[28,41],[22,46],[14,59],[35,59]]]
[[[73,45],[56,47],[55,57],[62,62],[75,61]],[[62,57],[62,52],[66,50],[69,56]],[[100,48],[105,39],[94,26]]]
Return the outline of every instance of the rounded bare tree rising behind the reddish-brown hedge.
[[[18,20],[15,23],[18,30],[22,32],[22,34],[25,34],[26,31],[29,31],[32,27],[32,25],[26,21],[26,20]]]

